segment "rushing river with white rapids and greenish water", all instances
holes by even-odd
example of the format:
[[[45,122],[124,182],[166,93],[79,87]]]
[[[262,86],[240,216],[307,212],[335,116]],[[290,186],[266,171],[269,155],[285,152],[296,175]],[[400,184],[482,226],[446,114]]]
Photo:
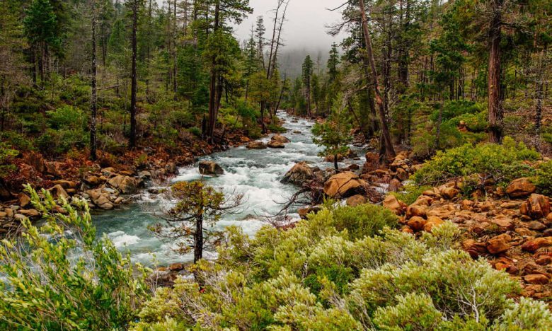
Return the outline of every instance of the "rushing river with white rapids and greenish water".
[[[281,203],[297,192],[297,187],[280,182],[295,163],[307,161],[320,168],[333,166],[318,156],[321,148],[312,142],[313,122],[289,116],[285,112],[279,112],[278,117],[284,121],[284,127],[288,129],[283,135],[292,141],[286,144],[285,149],[255,150],[241,146],[201,158],[217,162],[225,170],[224,175],[204,177],[209,185],[226,193],[243,193],[245,198],[239,208],[240,212],[224,217],[214,229],[220,230],[231,225],[240,226],[244,233],[254,236],[264,224],[263,218],[259,215],[277,213],[282,208]],[[261,140],[267,142],[270,137]],[[362,164],[360,160],[350,160],[347,164],[351,162]],[[202,178],[197,164],[180,168],[178,171],[178,175],[172,178],[171,182]],[[133,262],[148,266],[189,262],[192,260],[191,254],[176,255],[172,252],[171,245],[161,242],[148,230],[148,226],[161,221],[152,211],[166,208],[170,204],[170,201],[162,199],[159,195],[145,191],[135,197],[134,203],[122,209],[94,215],[93,222],[98,235],[107,234],[117,248],[130,252]],[[289,216],[293,219],[299,218],[297,214]]]

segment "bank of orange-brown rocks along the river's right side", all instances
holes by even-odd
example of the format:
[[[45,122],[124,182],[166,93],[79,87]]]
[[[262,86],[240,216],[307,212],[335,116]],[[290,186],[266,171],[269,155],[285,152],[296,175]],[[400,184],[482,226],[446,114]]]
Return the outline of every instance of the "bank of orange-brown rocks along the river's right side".
[[[414,236],[431,232],[446,221],[462,230],[456,238],[473,259],[485,259],[495,269],[505,270],[522,284],[522,296],[552,298],[552,212],[550,198],[536,194],[528,178],[518,178],[507,187],[489,183],[485,195],[461,194],[461,180],[432,187],[408,205],[387,191],[400,191],[410,175],[423,165],[408,152],[399,153],[389,168],[380,168],[374,153],[366,154],[359,170],[328,173],[297,163],[284,180],[303,187],[318,187],[323,196],[346,200],[355,206],[381,203],[393,211],[402,231]],[[319,206],[299,209],[301,218]]]

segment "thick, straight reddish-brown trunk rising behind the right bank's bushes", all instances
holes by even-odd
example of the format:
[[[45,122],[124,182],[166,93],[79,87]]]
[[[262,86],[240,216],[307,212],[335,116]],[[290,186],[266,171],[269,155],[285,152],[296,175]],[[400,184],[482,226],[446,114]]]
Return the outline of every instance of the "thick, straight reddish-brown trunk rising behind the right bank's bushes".
[[[488,108],[489,108],[489,141],[495,144],[502,142],[502,93],[500,82],[500,33],[502,30],[502,2],[504,0],[491,1],[493,8],[493,20],[490,22],[489,31],[489,65],[488,65]]]

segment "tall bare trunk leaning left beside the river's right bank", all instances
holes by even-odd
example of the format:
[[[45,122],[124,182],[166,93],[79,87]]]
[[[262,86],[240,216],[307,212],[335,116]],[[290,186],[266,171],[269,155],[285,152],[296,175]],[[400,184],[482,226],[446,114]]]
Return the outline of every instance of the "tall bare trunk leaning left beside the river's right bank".
[[[376,70],[376,62],[374,60],[374,52],[372,51],[372,38],[370,37],[368,30],[368,20],[366,16],[366,10],[364,8],[364,0],[359,1],[360,14],[362,16],[362,28],[364,30],[364,39],[366,40],[366,50],[369,59],[370,66],[372,68],[372,83],[374,84],[374,92],[376,95],[376,103],[379,108],[379,120],[381,124],[381,149],[380,159],[381,161],[388,161],[396,156],[393,143],[391,141],[391,134],[389,133],[389,127],[387,125],[384,100],[381,98],[381,91],[379,87],[378,74]],[[387,160],[384,160],[387,158]]]

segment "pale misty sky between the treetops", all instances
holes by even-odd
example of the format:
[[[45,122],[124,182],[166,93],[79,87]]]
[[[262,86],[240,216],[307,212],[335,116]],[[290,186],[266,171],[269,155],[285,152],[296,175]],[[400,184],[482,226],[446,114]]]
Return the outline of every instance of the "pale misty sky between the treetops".
[[[240,40],[248,39],[251,24],[257,16],[265,16],[267,37],[271,37],[268,30],[272,25],[276,0],[250,0],[249,5],[254,8],[246,21],[236,27],[236,37]],[[340,37],[331,37],[326,33],[326,24],[335,23],[340,19],[339,11],[328,11],[342,4],[340,0],[290,0],[287,8],[287,22],[284,23],[282,33],[287,49],[329,50],[332,42],[340,42]]]

